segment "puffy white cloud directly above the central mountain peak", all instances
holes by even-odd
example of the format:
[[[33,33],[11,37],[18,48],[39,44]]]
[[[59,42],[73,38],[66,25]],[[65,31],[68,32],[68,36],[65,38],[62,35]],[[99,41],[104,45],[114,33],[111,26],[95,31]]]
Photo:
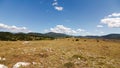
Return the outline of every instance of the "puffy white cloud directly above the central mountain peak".
[[[69,27],[65,27],[63,25],[57,25],[54,28],[50,28],[50,30],[47,30],[49,32],[55,32],[55,33],[65,33],[65,34],[78,34],[80,32],[84,32],[84,29],[71,29]]]

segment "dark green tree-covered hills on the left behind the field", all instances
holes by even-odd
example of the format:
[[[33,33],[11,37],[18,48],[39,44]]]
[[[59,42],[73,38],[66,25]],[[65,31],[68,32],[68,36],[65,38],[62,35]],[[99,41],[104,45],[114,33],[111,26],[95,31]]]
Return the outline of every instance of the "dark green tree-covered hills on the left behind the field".
[[[45,36],[41,33],[10,33],[0,32],[1,41],[31,41],[31,40],[46,40],[54,39],[53,37]]]

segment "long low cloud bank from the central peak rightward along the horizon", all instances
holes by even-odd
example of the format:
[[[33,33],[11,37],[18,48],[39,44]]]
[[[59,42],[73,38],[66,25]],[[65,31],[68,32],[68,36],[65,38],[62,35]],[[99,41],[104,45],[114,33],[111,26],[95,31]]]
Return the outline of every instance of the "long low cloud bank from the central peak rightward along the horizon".
[[[102,31],[102,30],[96,30],[96,31],[93,30],[92,32],[89,32],[89,31],[84,30],[84,29],[73,29],[73,28],[66,27],[64,25],[56,25],[53,28],[44,30],[44,32],[64,33],[64,34],[75,35],[75,36],[102,35],[102,34],[104,34],[104,31]]]

